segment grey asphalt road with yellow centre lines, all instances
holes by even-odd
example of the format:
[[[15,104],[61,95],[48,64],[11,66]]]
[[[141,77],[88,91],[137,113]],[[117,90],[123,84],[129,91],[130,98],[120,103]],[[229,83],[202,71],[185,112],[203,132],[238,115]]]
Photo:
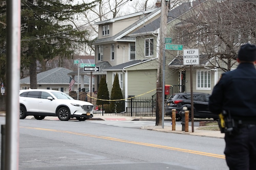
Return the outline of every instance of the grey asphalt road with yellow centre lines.
[[[1,124],[4,120],[0,117]],[[23,119],[19,127],[19,169],[228,169],[221,138],[112,126],[97,120]]]

